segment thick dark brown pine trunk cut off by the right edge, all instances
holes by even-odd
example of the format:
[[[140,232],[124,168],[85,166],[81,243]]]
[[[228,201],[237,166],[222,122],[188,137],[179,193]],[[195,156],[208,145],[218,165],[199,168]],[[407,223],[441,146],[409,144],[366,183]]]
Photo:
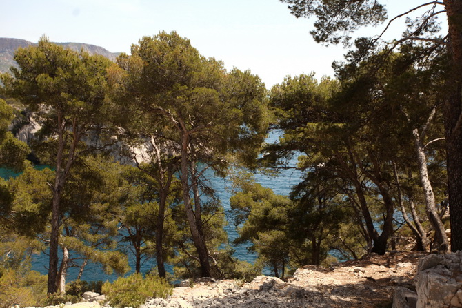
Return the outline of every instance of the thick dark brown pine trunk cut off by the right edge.
[[[444,0],[451,74],[444,105],[451,250],[462,250],[462,0]]]

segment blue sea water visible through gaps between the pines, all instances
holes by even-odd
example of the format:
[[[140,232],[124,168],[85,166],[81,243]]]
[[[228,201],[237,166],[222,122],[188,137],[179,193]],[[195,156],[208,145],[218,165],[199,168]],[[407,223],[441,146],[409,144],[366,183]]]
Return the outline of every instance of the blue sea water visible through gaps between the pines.
[[[266,143],[274,143],[277,139],[281,136],[280,132],[272,132],[266,139]],[[297,157],[292,158],[288,162],[288,167],[295,167],[297,164]],[[43,166],[39,166],[42,167]],[[17,176],[18,174],[12,172],[10,170],[6,170],[0,168],[0,176],[2,178],[10,178],[11,176]],[[301,178],[301,173],[299,170],[295,170],[294,168],[284,169],[281,172],[277,173],[277,175],[268,175],[264,173],[256,173],[254,174],[255,180],[260,183],[263,187],[268,187],[273,190],[275,194],[281,195],[288,195],[290,193],[290,189],[292,186],[297,185]],[[225,209],[225,217],[228,220],[228,225],[225,227],[225,231],[228,233],[228,243],[234,249],[234,257],[238,258],[239,260],[244,260],[249,263],[254,263],[257,255],[252,251],[248,251],[248,247],[250,243],[244,243],[241,245],[232,245],[232,242],[235,238],[239,235],[237,233],[237,228],[234,226],[234,222],[232,221],[232,212],[230,208],[230,197],[232,195],[231,192],[231,181],[230,178],[218,178],[216,176],[210,176],[210,183],[212,183],[212,187],[215,189],[218,198],[221,201],[221,205],[223,205]],[[128,250],[128,249],[127,249]],[[129,271],[126,275],[130,275],[134,272],[134,258],[132,254],[129,254],[129,265],[131,267],[131,271]],[[151,270],[155,270],[155,258],[150,258],[145,260],[145,262],[141,265],[141,272],[146,273]],[[41,274],[47,274],[48,270],[48,256],[45,253],[37,254],[32,257],[32,269],[39,271]],[[166,266],[167,271],[170,273],[173,272],[172,265]],[[70,267],[68,269],[68,281],[72,281],[77,279],[79,274],[79,267]],[[263,274],[270,275],[272,271],[270,269],[263,270]],[[103,267],[97,263],[89,263],[86,265],[85,270],[81,276],[81,280],[86,281],[113,281],[117,279],[117,274],[106,274],[103,270]]]

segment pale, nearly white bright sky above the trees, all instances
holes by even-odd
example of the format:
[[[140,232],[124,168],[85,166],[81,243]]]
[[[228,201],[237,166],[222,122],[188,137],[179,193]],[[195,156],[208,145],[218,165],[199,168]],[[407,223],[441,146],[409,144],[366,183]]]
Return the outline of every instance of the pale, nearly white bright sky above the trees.
[[[0,37],[37,42],[99,45],[130,54],[144,36],[176,31],[205,57],[223,61],[230,70],[251,70],[266,88],[285,76],[315,73],[334,76],[332,61],[341,61],[343,46],[324,46],[310,36],[313,20],[297,19],[279,0],[1,0]],[[388,16],[405,12],[422,0],[383,0]],[[445,21],[444,21],[445,22]],[[374,35],[379,28],[360,30]],[[385,38],[400,37],[404,19]]]

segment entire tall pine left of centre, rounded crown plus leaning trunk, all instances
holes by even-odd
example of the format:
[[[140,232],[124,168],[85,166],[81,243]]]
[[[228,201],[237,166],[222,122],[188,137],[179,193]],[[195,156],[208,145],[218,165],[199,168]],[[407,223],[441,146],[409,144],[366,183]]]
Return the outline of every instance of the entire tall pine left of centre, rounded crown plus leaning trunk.
[[[225,237],[205,170],[225,176],[236,161],[254,165],[270,118],[265,86],[248,71],[226,72],[223,63],[203,57],[176,32],[143,37],[131,53],[121,54],[121,70],[110,72],[117,119],[129,138],[148,137],[157,152],[178,160],[183,219],[192,238],[180,236],[184,254],[177,259],[190,265],[193,274],[196,261],[186,259],[194,243],[201,275],[210,276],[209,251]],[[154,153],[152,163],[163,161],[159,156]]]

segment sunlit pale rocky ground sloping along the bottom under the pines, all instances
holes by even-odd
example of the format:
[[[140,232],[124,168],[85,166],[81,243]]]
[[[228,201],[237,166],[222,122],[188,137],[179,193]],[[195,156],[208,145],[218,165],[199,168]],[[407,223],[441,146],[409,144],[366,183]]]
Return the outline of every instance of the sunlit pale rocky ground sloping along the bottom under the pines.
[[[202,280],[192,287],[175,288],[168,299],[151,298],[142,308],[391,307],[396,286],[412,288],[422,256],[425,254],[393,251],[385,256],[371,254],[329,269],[308,265],[286,280],[267,276],[259,276],[250,283]],[[96,302],[77,305],[64,307],[99,307]]]

